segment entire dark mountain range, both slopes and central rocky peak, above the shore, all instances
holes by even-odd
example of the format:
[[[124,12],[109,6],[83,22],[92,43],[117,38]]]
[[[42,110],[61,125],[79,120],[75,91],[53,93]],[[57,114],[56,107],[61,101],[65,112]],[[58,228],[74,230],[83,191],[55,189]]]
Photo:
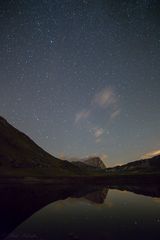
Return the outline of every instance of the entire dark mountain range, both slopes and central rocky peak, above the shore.
[[[109,177],[160,175],[160,155],[106,168],[99,157],[58,159],[0,116],[0,177]]]

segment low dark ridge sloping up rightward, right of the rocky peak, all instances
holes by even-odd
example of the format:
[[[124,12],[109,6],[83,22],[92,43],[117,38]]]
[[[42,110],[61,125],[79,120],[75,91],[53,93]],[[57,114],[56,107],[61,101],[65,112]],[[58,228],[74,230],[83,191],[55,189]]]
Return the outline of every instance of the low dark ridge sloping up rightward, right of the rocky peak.
[[[107,168],[106,173],[111,174],[160,174],[160,155],[149,158],[142,159],[134,162],[130,162],[121,166],[115,166],[112,168]]]

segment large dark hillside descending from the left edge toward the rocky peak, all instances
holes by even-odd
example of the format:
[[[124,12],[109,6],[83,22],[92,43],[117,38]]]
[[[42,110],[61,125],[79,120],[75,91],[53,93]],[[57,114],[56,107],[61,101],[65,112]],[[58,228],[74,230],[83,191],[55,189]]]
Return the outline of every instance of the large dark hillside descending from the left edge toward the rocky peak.
[[[0,176],[75,176],[98,174],[53,157],[0,117]]]

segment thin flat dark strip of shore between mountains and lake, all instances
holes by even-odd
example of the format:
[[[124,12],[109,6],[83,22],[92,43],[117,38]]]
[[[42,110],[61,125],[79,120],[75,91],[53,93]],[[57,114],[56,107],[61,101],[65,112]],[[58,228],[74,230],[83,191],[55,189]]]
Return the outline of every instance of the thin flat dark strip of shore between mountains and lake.
[[[55,177],[20,177],[0,176],[2,183],[39,183],[39,184],[157,184],[160,182],[159,174],[145,175],[115,175],[115,176],[55,176]]]

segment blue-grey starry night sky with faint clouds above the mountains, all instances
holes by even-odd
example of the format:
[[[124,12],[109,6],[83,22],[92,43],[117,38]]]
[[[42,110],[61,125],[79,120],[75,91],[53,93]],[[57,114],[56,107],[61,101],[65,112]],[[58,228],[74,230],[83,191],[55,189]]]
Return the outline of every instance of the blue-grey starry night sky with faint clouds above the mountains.
[[[56,157],[158,152],[159,12],[159,0],[0,1],[0,115]]]

